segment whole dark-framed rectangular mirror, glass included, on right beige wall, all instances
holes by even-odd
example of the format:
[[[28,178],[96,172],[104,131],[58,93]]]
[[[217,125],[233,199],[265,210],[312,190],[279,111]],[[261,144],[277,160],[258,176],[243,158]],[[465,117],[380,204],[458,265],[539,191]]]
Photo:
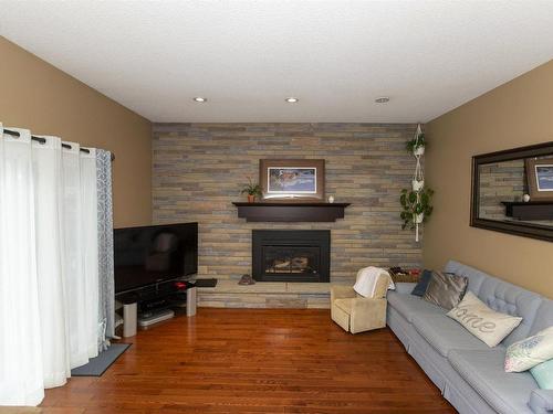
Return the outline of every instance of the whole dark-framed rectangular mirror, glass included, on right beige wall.
[[[472,157],[470,225],[553,242],[553,141]]]

